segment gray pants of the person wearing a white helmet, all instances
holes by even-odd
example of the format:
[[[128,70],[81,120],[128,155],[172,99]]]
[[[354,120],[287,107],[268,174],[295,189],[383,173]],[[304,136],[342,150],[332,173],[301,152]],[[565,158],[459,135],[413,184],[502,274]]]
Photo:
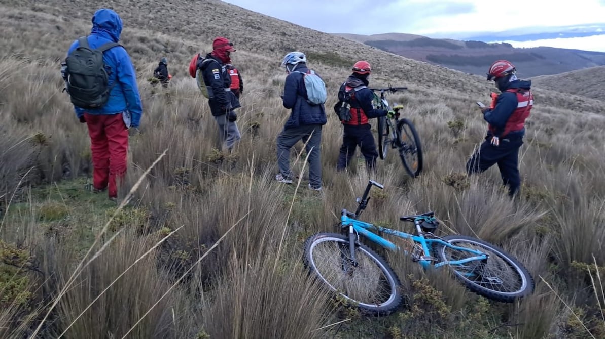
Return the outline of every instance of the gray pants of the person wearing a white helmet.
[[[313,188],[321,187],[321,127],[322,125],[300,125],[284,129],[277,136],[277,165],[284,178],[292,179],[290,148],[298,141],[308,141],[306,150],[309,154],[309,183]]]

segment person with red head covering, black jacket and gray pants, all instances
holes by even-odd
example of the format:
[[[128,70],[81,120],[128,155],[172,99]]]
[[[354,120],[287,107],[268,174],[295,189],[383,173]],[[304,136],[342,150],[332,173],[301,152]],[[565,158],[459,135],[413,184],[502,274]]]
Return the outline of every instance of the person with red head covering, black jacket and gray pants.
[[[212,52],[201,61],[200,70],[208,88],[208,105],[217,121],[221,143],[232,150],[235,142],[241,139],[240,130],[235,121],[235,109],[241,107],[240,101],[231,92],[231,77],[226,64],[231,63],[231,52],[235,52],[233,43],[224,37],[217,37],[212,42]]]

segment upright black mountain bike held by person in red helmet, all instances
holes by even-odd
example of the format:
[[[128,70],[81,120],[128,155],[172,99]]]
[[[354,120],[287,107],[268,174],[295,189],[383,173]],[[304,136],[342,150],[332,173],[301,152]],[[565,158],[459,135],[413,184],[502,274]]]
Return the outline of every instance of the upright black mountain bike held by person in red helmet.
[[[389,148],[397,148],[399,157],[404,164],[405,171],[411,177],[417,177],[422,172],[422,145],[420,137],[414,124],[405,118],[399,119],[401,113],[399,110],[404,108],[402,105],[395,105],[391,108],[385,98],[385,92],[397,92],[405,90],[408,87],[388,88],[370,88],[373,91],[379,91],[380,97],[374,92],[374,105],[384,110],[393,110],[393,116],[381,116],[378,118],[378,154],[381,159],[387,159]]]

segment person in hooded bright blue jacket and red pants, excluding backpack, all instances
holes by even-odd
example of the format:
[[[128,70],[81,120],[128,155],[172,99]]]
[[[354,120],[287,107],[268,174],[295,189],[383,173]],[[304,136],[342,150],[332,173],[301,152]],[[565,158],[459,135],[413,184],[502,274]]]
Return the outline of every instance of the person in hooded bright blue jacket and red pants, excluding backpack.
[[[102,8],[93,15],[93,28],[87,37],[91,48],[99,48],[108,42],[119,42],[122,19],[113,10]],[[74,41],[67,55],[79,46]],[[128,161],[128,129],[138,128],[143,107],[137,75],[130,56],[122,46],[103,52],[103,62],[108,69],[111,88],[107,103],[97,109],[74,106],[80,122],[87,124],[93,157],[94,192],[107,190],[111,200],[117,198],[117,182],[126,174]]]

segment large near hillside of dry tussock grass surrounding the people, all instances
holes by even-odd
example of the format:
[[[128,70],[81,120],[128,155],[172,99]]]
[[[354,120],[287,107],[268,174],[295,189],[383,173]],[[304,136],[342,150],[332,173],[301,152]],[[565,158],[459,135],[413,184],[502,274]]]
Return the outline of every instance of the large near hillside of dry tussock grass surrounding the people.
[[[0,337],[605,334],[602,101],[535,90],[520,154],[522,196],[509,201],[497,168],[460,175],[486,128],[474,102],[489,100],[492,83],[220,1],[96,6],[122,16],[122,42],[143,98],[141,133],[131,138],[120,194],[134,191],[126,206],[87,190],[90,142],[61,92],[60,59],[90,31],[98,7],[81,0],[0,3]],[[239,24],[217,19],[223,17]],[[238,112],[243,139],[233,153],[217,147],[208,103],[186,74],[192,54],[208,52],[217,35],[237,46],[234,63],[246,87]],[[307,53],[329,89],[322,193],[306,189],[302,145],[292,154],[301,185],[273,180],[275,138],[288,113],[278,65],[291,49]],[[162,56],[174,75],[168,90],[147,81]],[[419,130],[421,177],[406,176],[392,153],[371,177],[362,159],[336,173],[342,130],[330,108],[359,59],[372,63],[372,85],[410,88],[390,100],[405,105]],[[379,251],[402,280],[405,305],[371,318],[331,299],[302,269],[302,244],[312,233],[335,232],[336,214],[355,206],[368,179],[385,189],[373,193],[364,220],[411,232],[398,217],[433,209],[443,221],[439,235],[478,236],[517,256],[534,275],[536,293],[514,304],[489,302],[446,271],[425,273],[401,253]]]

